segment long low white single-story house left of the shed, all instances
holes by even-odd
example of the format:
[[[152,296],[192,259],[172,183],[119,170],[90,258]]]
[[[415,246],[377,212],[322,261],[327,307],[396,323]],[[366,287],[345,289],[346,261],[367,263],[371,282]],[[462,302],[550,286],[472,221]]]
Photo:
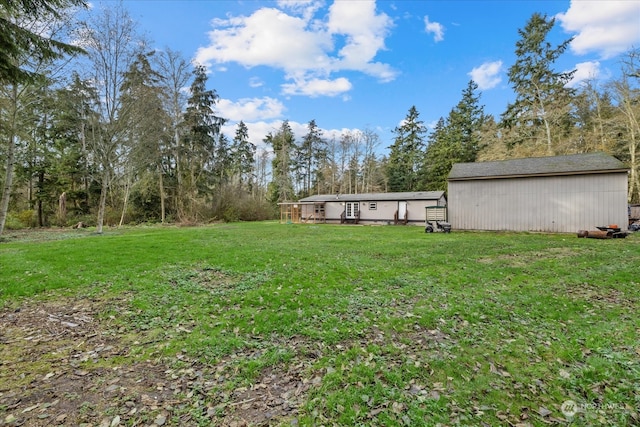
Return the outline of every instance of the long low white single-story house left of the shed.
[[[280,221],[424,226],[426,207],[446,205],[444,191],[322,194],[280,203]]]

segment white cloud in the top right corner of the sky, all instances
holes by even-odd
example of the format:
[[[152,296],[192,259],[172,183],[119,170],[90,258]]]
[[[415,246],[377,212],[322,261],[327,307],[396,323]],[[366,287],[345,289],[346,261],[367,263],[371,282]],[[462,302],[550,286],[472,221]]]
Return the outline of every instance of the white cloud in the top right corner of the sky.
[[[572,0],[569,10],[556,18],[565,31],[576,34],[571,50],[577,55],[596,52],[607,59],[640,43],[639,1]]]

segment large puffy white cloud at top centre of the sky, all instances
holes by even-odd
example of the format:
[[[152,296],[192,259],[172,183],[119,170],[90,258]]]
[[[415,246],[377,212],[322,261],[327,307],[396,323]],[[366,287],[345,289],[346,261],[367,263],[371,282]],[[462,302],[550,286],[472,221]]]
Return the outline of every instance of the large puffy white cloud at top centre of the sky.
[[[377,13],[374,1],[335,1],[326,16],[314,19],[320,4],[281,0],[281,9],[264,7],[250,16],[214,19],[210,44],[198,49],[196,61],[207,66],[233,62],[247,68],[277,68],[289,81],[282,85],[285,93],[307,96],[350,90],[345,77],[332,77],[344,71],[393,80],[397,72],[375,61],[385,49],[391,18]]]

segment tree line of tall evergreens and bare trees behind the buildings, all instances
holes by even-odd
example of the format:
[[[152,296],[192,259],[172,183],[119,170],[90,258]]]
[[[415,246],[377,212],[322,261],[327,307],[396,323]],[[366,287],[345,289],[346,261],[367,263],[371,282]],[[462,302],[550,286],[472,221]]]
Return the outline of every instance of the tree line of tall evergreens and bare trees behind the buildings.
[[[571,39],[546,41],[553,18],[534,14],[519,30],[508,70],[516,97],[499,118],[470,81],[430,131],[410,107],[380,155],[373,130],[326,138],[315,120],[298,139],[288,121],[261,144],[243,121],[225,135],[202,66],[149,49],[121,3],[78,20],[83,6],[0,0],[0,36],[15,41],[0,46],[0,234],[262,220],[311,194],[446,190],[456,162],[591,151],[626,163],[629,201],[640,202],[640,51],[615,80],[571,89],[573,72],[553,68]]]

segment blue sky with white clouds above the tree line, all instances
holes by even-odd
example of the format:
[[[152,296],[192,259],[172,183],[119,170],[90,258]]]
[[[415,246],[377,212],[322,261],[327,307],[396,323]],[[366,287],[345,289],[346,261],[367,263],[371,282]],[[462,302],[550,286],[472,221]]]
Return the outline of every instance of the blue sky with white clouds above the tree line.
[[[115,0],[97,0],[94,7]],[[229,139],[243,120],[261,146],[288,120],[301,138],[315,120],[326,138],[373,130],[388,152],[415,106],[428,128],[470,80],[499,119],[515,100],[507,72],[534,13],[555,18],[548,41],[573,37],[556,71],[606,82],[640,48],[640,0],[124,0],[157,49],[207,67]]]

